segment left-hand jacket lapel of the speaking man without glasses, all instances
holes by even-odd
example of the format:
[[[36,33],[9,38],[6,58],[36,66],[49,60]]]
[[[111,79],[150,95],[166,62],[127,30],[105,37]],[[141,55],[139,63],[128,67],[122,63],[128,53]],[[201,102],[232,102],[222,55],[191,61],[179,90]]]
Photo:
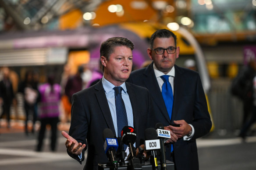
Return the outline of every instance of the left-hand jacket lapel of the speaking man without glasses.
[[[100,109],[102,111],[103,117],[107,122],[107,126],[112,130],[114,134],[116,134],[105,90],[103,89],[102,80],[100,80],[100,82],[96,84],[95,90],[95,95],[99,103]]]

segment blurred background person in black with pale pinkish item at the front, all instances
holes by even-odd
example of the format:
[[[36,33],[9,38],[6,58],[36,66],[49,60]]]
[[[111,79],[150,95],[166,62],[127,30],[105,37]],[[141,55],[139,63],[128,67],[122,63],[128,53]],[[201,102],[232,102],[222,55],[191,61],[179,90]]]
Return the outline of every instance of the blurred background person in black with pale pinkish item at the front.
[[[34,133],[35,123],[37,119],[37,107],[36,103],[39,99],[39,91],[37,89],[37,83],[33,80],[34,72],[28,70],[25,73],[25,80],[19,84],[18,92],[23,94],[24,97],[24,109],[25,109],[25,134],[28,135],[28,118],[32,114],[32,130]]]

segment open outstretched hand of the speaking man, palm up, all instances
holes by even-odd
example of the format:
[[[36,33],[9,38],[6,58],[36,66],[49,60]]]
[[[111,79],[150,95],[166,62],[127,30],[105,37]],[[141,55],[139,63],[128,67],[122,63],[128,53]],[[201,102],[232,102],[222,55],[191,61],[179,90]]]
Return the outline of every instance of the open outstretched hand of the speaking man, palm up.
[[[67,132],[62,131],[61,134],[67,139],[65,145],[68,149],[68,152],[80,155],[82,153],[82,150],[85,149],[85,144],[82,144],[81,142],[78,143],[74,138],[72,138],[70,135],[68,135]]]

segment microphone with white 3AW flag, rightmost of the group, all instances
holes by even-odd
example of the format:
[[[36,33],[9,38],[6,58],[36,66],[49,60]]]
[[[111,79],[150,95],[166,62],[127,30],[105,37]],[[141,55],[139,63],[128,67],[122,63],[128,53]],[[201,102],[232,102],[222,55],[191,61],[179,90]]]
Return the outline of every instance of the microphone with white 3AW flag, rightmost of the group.
[[[160,149],[161,149],[160,164],[161,164],[161,170],[166,170],[166,156],[165,156],[164,139],[170,139],[171,138],[171,134],[170,134],[170,131],[164,130],[164,125],[162,123],[156,123],[156,132],[157,132],[158,138],[160,139]]]

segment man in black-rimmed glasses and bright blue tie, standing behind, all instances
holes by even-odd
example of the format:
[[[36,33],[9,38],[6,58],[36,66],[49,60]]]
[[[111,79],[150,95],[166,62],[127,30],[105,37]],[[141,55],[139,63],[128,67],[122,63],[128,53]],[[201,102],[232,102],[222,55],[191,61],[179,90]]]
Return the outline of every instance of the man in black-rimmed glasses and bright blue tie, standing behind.
[[[206,135],[212,123],[199,74],[175,65],[180,51],[176,39],[169,30],[156,31],[147,49],[153,62],[133,71],[127,81],[149,90],[155,114],[152,119],[171,131],[171,139],[166,144],[167,160],[174,161],[176,170],[198,170],[196,139]],[[171,101],[164,100],[162,94],[163,85],[167,83],[171,94],[165,97]]]

